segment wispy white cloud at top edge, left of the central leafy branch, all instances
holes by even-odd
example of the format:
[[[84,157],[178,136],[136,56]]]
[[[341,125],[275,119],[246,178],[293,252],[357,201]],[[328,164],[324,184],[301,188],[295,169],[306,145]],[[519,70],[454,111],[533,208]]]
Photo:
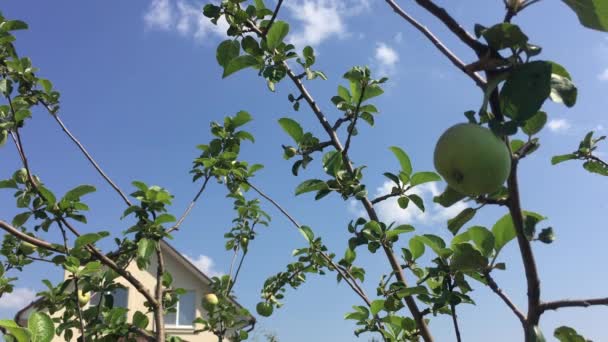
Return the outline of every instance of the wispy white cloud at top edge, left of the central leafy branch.
[[[203,40],[208,34],[225,36],[228,23],[221,19],[217,25],[203,15],[203,4],[184,0],[154,0],[144,13],[148,29],[176,31],[185,37]]]

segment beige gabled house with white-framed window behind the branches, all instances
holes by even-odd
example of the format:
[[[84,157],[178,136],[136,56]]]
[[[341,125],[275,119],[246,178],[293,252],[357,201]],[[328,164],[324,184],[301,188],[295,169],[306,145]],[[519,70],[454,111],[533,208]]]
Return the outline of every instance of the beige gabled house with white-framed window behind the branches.
[[[201,327],[192,325],[195,317],[204,316],[202,298],[210,292],[211,279],[168,243],[161,241],[161,250],[163,252],[165,267],[171,270],[173,285],[188,291],[180,297],[177,304],[177,312],[165,316],[165,330],[167,334],[178,336],[184,341],[190,342],[217,342],[217,337],[209,332],[194,334],[194,330]],[[132,262],[127,267],[127,270],[153,292],[156,284],[156,262],[154,258],[148,270],[140,270],[135,262]],[[113,293],[114,305],[129,309],[129,320],[132,319],[133,313],[137,310],[146,312],[146,308],[143,305],[145,302],[143,295],[137,292],[126,280],[118,278],[117,282],[124,285],[125,288]],[[95,302],[99,300],[96,297],[93,296],[91,298],[91,305],[95,305]],[[17,312],[15,322],[21,326],[26,326],[27,318],[36,310],[36,305],[40,301],[41,299],[38,299]],[[240,306],[236,302],[235,304]],[[154,319],[151,314],[149,315],[150,323],[148,330],[152,330]],[[247,317],[246,320],[248,321],[248,326],[253,329],[255,318],[251,316]],[[247,327],[245,328],[247,329]],[[56,336],[53,342],[55,341],[63,341],[63,338]]]

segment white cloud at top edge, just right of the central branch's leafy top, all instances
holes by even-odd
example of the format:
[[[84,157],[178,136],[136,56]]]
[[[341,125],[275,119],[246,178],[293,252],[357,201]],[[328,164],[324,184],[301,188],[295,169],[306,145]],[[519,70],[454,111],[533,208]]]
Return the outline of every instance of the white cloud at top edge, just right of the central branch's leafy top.
[[[316,46],[329,38],[345,38],[349,35],[344,17],[354,16],[369,8],[368,0],[302,0],[287,2],[295,21],[302,25],[290,38],[290,43],[303,47]]]

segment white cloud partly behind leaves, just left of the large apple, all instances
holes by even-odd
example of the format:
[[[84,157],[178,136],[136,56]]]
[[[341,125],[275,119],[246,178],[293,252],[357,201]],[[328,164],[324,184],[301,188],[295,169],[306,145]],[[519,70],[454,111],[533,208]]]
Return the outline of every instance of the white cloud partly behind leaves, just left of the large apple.
[[[382,196],[390,193],[393,185],[394,183],[390,181],[384,182],[381,187],[376,189],[375,196]],[[449,208],[444,208],[441,205],[434,203],[433,197],[441,193],[436,183],[419,185],[408,191],[408,193],[420,196],[424,201],[426,210],[422,212],[411,202],[406,209],[401,209],[397,203],[397,197],[392,197],[374,206],[378,216],[383,222],[387,224],[397,222],[399,224],[426,225],[446,223],[448,219],[453,218],[468,207],[464,202],[458,202]],[[365,212],[356,201],[351,201],[349,203],[349,211],[356,216],[365,216]]]

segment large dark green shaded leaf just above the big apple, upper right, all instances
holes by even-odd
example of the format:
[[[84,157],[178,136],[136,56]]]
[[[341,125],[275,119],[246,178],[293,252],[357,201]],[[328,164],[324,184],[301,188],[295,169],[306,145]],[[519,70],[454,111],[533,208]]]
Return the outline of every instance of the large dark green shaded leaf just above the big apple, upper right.
[[[519,122],[536,114],[551,93],[551,69],[545,61],[517,66],[500,91],[503,114]]]

